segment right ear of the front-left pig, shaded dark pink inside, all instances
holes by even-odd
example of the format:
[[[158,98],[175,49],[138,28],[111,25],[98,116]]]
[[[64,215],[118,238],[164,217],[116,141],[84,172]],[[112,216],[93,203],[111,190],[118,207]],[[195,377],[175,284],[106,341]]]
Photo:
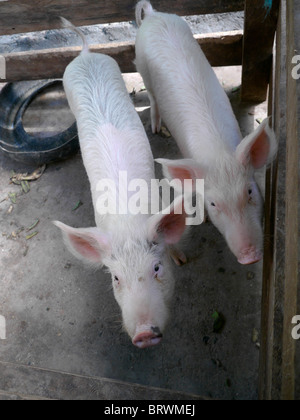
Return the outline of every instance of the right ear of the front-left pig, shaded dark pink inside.
[[[166,244],[178,243],[186,229],[186,217],[184,198],[180,196],[163,212],[150,217],[148,220],[149,241],[156,242],[162,235]]]

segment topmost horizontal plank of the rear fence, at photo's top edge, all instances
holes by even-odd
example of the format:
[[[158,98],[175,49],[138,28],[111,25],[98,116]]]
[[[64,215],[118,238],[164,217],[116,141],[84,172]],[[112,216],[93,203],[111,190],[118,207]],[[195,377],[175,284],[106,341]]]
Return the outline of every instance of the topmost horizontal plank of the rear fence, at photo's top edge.
[[[10,0],[0,2],[0,35],[60,28],[58,16],[76,26],[135,19],[137,0]],[[154,8],[179,15],[243,10],[244,0],[152,0]]]

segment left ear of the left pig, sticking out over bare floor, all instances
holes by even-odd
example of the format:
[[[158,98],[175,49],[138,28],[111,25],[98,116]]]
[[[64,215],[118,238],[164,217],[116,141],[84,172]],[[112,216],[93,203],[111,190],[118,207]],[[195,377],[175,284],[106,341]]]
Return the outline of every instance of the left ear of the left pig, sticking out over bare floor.
[[[98,228],[75,229],[61,222],[53,222],[61,229],[64,241],[71,253],[78,259],[92,265],[102,265],[110,252],[109,238]]]

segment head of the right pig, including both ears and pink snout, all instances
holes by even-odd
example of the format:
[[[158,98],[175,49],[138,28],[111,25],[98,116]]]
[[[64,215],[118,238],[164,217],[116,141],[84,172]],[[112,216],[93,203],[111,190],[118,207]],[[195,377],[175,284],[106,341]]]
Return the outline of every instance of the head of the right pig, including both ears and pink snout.
[[[225,237],[241,264],[254,264],[263,256],[263,199],[255,171],[270,163],[277,152],[274,132],[266,119],[232,153],[218,150],[206,164],[192,159],[159,159],[169,179],[205,180],[205,207],[210,220]]]

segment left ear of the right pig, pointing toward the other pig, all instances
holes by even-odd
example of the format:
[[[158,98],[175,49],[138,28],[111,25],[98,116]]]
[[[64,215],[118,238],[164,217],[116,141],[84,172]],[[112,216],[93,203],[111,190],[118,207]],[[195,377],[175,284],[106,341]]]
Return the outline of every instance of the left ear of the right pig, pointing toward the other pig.
[[[185,179],[192,180],[193,189],[190,192],[195,192],[196,180],[204,179],[206,175],[206,169],[204,167],[201,168],[193,159],[156,159],[155,162],[162,165],[164,177],[169,181],[179,179],[181,181],[181,188]]]

